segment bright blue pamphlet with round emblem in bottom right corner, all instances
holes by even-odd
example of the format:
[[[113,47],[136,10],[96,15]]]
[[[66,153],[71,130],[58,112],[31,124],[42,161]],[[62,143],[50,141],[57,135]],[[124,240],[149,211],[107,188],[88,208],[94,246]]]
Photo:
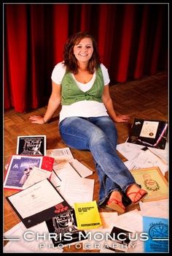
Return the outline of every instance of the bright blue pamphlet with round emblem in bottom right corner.
[[[168,252],[168,219],[143,217],[143,224],[149,236],[144,241],[144,252]]]

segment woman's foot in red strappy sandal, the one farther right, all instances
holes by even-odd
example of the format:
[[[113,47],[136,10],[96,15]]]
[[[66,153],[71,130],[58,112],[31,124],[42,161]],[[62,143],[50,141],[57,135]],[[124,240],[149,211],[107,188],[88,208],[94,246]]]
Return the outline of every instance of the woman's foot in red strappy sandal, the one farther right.
[[[133,203],[138,203],[140,200],[143,200],[147,195],[146,190],[141,189],[137,184],[132,184],[128,187],[126,195],[130,198]]]

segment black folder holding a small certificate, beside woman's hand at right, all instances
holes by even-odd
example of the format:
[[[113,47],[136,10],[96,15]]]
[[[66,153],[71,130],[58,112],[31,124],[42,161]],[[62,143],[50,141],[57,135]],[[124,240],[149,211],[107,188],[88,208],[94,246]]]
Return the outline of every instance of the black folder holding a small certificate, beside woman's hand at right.
[[[126,142],[165,149],[168,136],[168,121],[135,118]]]

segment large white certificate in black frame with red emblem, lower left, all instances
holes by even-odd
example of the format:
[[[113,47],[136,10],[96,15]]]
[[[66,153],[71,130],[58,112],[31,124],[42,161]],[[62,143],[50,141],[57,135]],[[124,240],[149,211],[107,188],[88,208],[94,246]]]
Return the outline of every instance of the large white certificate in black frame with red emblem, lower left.
[[[9,204],[26,227],[55,217],[71,209],[49,179],[7,197]]]

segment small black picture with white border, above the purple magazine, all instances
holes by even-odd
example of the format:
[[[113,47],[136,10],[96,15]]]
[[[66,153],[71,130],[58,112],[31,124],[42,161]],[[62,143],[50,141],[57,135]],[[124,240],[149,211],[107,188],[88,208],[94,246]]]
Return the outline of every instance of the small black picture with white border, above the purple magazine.
[[[46,155],[46,136],[17,136],[16,154],[45,156]]]

